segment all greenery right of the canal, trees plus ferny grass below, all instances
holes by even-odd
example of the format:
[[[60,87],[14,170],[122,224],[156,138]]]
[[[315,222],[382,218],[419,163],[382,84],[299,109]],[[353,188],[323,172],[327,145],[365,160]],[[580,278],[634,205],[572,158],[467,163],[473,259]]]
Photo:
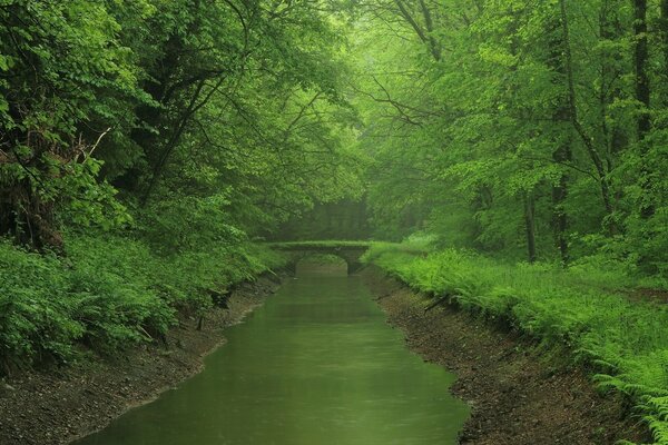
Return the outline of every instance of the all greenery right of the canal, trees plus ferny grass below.
[[[668,271],[668,2],[364,10],[352,88],[372,225],[441,249],[371,256],[420,290],[570,345],[668,443],[666,309],[629,298],[665,289]]]

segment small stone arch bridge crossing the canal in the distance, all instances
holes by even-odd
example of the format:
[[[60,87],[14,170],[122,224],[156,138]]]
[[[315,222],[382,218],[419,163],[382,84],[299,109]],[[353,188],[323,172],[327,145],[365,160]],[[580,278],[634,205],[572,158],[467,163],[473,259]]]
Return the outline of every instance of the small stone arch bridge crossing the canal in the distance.
[[[288,267],[296,269],[297,263],[314,254],[335,255],[345,260],[348,274],[362,268],[360,258],[371,246],[369,241],[294,241],[272,243],[272,248],[289,256]]]

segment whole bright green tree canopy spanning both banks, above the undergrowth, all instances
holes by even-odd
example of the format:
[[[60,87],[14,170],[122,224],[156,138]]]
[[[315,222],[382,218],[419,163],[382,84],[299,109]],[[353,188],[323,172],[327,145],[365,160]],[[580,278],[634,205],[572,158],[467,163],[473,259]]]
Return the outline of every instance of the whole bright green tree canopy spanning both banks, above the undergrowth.
[[[0,228],[60,248],[62,227],[204,206],[266,236],[364,196],[377,238],[428,230],[657,273],[667,14],[640,0],[4,1]]]

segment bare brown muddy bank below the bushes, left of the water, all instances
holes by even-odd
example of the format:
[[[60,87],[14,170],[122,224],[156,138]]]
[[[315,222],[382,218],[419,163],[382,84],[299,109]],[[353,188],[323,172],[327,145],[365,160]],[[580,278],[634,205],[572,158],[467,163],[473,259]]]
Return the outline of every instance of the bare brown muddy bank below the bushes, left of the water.
[[[154,399],[202,370],[203,358],[225,342],[224,328],[261,305],[276,281],[263,277],[239,286],[229,309],[209,312],[202,330],[196,319],[183,319],[167,335],[167,346],[147,345],[114,362],[28,373],[0,383],[0,444],[67,444]]]

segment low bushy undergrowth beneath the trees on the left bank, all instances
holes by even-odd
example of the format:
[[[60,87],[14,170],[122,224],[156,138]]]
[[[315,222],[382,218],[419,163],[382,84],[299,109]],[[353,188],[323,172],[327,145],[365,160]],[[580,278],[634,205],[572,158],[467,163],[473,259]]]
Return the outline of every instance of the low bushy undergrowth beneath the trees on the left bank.
[[[176,324],[177,312],[202,314],[212,291],[284,261],[246,241],[174,253],[110,233],[66,241],[56,256],[0,239],[0,374],[151,342]]]

